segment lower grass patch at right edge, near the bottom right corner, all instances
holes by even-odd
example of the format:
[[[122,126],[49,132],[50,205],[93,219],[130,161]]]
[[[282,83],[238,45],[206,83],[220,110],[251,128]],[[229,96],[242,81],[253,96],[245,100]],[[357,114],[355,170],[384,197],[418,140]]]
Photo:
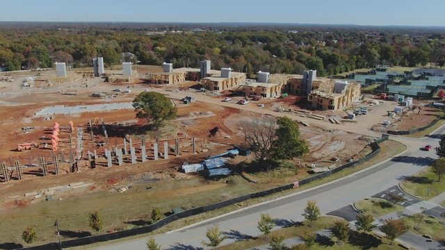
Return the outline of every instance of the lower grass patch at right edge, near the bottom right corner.
[[[422,222],[418,225],[416,224],[416,222],[414,222],[412,216],[407,216],[403,218],[403,222],[405,222],[405,224],[410,227],[410,231],[412,231],[413,233],[419,235],[430,235],[434,240],[437,240],[439,242],[445,241],[445,226],[439,223],[439,219],[423,217]]]

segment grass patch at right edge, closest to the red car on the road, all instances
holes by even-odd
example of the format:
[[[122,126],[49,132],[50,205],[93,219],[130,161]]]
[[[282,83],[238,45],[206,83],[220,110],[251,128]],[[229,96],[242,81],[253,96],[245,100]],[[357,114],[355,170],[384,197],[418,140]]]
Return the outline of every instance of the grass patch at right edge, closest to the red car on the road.
[[[437,176],[431,172],[431,167],[427,167],[414,176],[406,176],[401,187],[408,194],[429,200],[445,191],[445,180],[437,182]]]

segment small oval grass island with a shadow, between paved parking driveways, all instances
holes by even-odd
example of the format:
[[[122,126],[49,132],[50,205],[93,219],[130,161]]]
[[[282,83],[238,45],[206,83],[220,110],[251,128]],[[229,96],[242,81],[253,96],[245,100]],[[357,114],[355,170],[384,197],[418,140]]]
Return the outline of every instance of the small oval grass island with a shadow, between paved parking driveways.
[[[389,213],[403,210],[403,206],[393,206],[393,204],[384,199],[368,199],[355,202],[355,207],[362,213],[369,213],[373,217],[380,217]]]

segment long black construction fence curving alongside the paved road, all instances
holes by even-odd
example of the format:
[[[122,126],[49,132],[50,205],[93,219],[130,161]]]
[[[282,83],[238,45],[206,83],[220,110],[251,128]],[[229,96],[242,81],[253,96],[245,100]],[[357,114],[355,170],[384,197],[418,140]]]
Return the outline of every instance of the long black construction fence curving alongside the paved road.
[[[304,185],[307,183],[311,183],[312,181],[316,181],[320,178],[324,178],[326,176],[330,176],[331,174],[340,172],[343,169],[346,169],[348,167],[355,167],[361,163],[366,162],[367,160],[373,158],[374,156],[376,156],[378,153],[380,153],[380,147],[378,144],[380,144],[381,142],[385,142],[386,140],[389,139],[389,135],[382,135],[382,138],[375,140],[374,142],[371,142],[371,144],[369,144],[369,146],[372,149],[372,152],[369,153],[369,155],[365,156],[364,158],[361,158],[359,160],[356,160],[352,163],[347,163],[345,165],[342,165],[340,167],[337,167],[335,169],[332,169],[328,172],[324,172],[323,174],[318,174],[316,176],[312,176],[309,178],[305,178],[301,181],[298,182],[298,185]],[[150,224],[149,226],[142,226],[139,228],[132,228],[129,230],[125,230],[125,231],[118,231],[115,233],[106,233],[103,235],[95,235],[95,236],[90,236],[90,237],[86,237],[86,238],[79,238],[79,239],[74,239],[74,240],[67,240],[62,242],[62,247],[79,247],[79,246],[83,246],[83,245],[87,245],[87,244],[93,244],[93,243],[97,243],[97,242],[106,242],[108,240],[118,240],[121,238],[127,238],[129,236],[134,236],[134,235],[140,235],[140,234],[144,234],[144,233],[150,233],[156,229],[159,229],[167,224],[170,224],[171,222],[175,222],[178,219],[183,219],[186,217],[191,217],[193,215],[199,215],[201,213],[206,213],[212,210],[217,210],[220,208],[225,208],[226,206],[230,206],[230,205],[234,205],[236,203],[240,203],[242,201],[247,201],[248,199],[255,199],[255,198],[259,198],[259,197],[266,197],[270,194],[275,194],[277,192],[282,192],[284,190],[291,190],[293,188],[296,188],[296,183],[290,183],[290,184],[286,184],[286,185],[282,185],[280,187],[277,188],[271,188],[269,190],[264,190],[264,191],[260,191],[260,192],[254,192],[252,194],[246,194],[240,197],[235,197],[233,199],[228,199],[226,201],[220,201],[218,203],[213,203],[207,206],[200,206],[197,208],[192,208],[190,210],[185,210],[179,213],[175,213],[173,215],[170,215],[168,217],[165,217],[164,219],[159,220],[158,222],[155,222],[153,224]],[[58,243],[49,243],[49,244],[44,244],[44,245],[40,245],[40,246],[36,246],[36,247],[30,247],[30,248],[26,248],[26,249],[35,249],[35,250],[47,250],[47,249],[59,249]]]

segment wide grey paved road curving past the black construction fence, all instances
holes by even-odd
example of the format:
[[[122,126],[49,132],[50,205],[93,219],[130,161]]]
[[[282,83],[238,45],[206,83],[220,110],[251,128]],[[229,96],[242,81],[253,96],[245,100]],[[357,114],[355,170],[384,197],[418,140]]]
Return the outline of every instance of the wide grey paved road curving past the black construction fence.
[[[444,128],[440,128],[435,133],[440,134],[444,130]],[[237,210],[234,213],[216,217],[200,224],[156,235],[154,238],[164,249],[200,249],[202,240],[205,240],[207,228],[213,224],[218,224],[222,231],[239,236],[223,242],[223,244],[229,244],[241,240],[241,238],[259,235],[257,221],[261,213],[268,213],[276,218],[277,222],[280,222],[278,226],[284,226],[303,220],[301,214],[307,200],[317,201],[321,212],[327,214],[354,201],[371,197],[373,194],[397,185],[404,176],[416,174],[416,172],[427,167],[429,161],[425,159],[436,158],[434,151],[420,151],[419,148],[423,147],[424,144],[431,144],[436,147],[439,141],[437,136],[420,140],[409,138],[399,138],[399,140],[407,143],[410,148],[394,160],[380,163],[370,169],[346,176],[339,181],[243,210]],[[147,238],[111,244],[99,249],[145,249],[145,242],[147,242]]]

